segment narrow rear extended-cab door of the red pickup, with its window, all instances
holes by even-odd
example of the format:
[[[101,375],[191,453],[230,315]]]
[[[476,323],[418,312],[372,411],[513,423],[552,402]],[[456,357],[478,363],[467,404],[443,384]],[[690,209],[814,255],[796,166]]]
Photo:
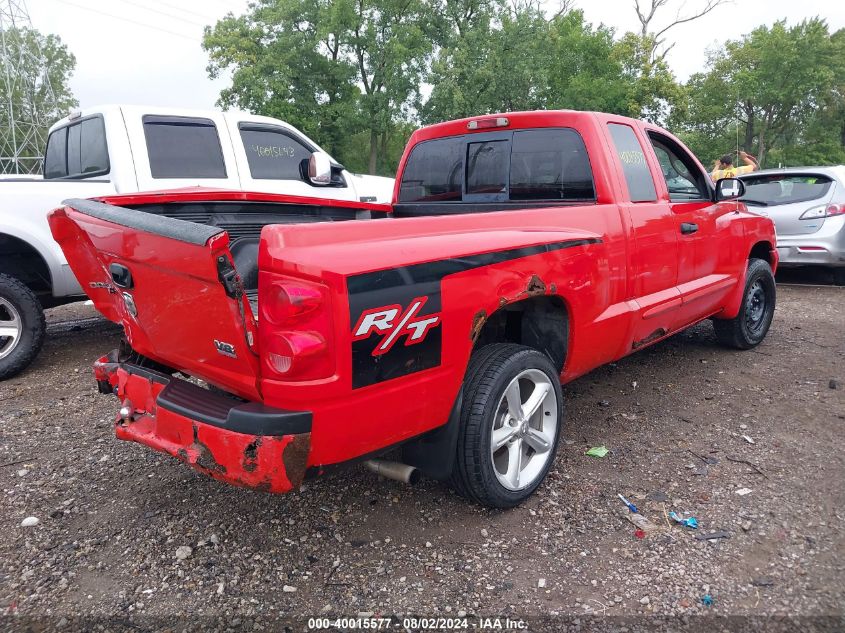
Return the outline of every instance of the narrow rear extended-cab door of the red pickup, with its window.
[[[668,202],[657,195],[643,139],[627,122],[607,123],[631,221],[629,295],[637,304],[631,349],[671,332],[681,296],[677,287],[678,232]],[[623,199],[624,196],[623,196]]]

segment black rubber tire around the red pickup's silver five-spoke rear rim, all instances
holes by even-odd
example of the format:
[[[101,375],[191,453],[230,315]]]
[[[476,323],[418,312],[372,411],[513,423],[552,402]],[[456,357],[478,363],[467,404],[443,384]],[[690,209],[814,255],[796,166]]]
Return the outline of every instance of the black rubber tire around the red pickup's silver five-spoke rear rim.
[[[550,449],[544,450],[542,453],[535,452],[528,457],[529,460],[540,459],[532,468],[532,472],[540,466],[542,468],[537,470],[537,473],[531,477],[530,482],[524,487],[512,490],[506,488],[500,482],[499,475],[495,470],[491,450],[493,426],[497,423],[496,418],[501,415],[500,405],[506,405],[505,391],[508,385],[528,370],[537,370],[548,378],[548,382],[551,384],[551,392],[547,390],[546,393],[554,394],[554,410],[557,412],[557,420],[555,420],[554,439],[550,442]],[[539,376],[536,372],[532,373]],[[523,383],[517,381],[517,385],[521,384]],[[539,425],[539,430],[542,430],[546,420],[543,416],[551,414],[546,408],[546,403],[549,403],[550,407],[548,396],[543,400],[543,403],[542,412],[538,409],[539,415],[531,418],[535,424]],[[512,508],[519,505],[537,489],[554,463],[560,439],[562,414],[563,395],[560,377],[547,356],[530,347],[510,343],[485,345],[478,349],[470,358],[464,380],[464,401],[461,410],[461,426],[458,432],[457,455],[452,472],[452,486],[459,494],[484,506]],[[513,424],[512,426],[521,428],[524,433],[528,430],[529,425],[530,423],[522,426]],[[504,421],[499,430],[503,428],[505,428]],[[508,445],[503,446],[500,450],[507,451],[507,449]],[[522,448],[519,450],[522,451]],[[529,445],[527,452],[531,453],[532,451],[533,449]],[[546,455],[546,452],[549,454]],[[543,459],[545,462],[542,461]],[[520,464],[521,462],[517,463]],[[526,470],[529,466],[530,462],[527,463]],[[517,470],[519,470],[519,467],[517,467]]]

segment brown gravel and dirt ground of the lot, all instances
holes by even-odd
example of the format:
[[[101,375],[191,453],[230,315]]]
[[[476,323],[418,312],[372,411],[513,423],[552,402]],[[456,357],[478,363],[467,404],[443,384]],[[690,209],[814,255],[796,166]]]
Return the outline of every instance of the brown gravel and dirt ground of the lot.
[[[17,616],[6,626],[186,616],[253,630],[279,616],[415,613],[559,630],[627,621],[591,614],[707,613],[842,630],[845,289],[781,286],[754,351],[721,349],[704,323],[566,386],[556,466],[507,512],[360,467],[274,497],[118,442],[117,403],[90,365],[119,331],[61,325],[94,316],[84,306],[51,312],[40,360],[0,383],[0,609]],[[584,454],[598,445],[604,459]],[[660,530],[637,539],[617,493]],[[671,510],[700,527],[670,526]],[[39,523],[22,527],[30,516]],[[696,539],[717,531],[727,537]]]

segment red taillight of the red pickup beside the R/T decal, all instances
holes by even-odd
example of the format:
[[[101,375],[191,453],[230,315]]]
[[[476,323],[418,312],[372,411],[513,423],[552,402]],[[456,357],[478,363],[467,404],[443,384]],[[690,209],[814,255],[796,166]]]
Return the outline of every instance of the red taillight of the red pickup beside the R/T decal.
[[[328,288],[261,273],[258,307],[265,375],[282,380],[318,380],[334,373]]]

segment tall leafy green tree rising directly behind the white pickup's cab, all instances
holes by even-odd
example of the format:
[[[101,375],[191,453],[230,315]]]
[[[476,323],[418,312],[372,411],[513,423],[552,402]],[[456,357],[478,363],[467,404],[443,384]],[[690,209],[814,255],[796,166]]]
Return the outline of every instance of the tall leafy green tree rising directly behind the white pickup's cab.
[[[430,12],[419,0],[259,0],[206,28],[212,77],[232,72],[219,105],[282,118],[347,163],[369,135],[367,169],[407,119],[428,62]],[[351,159],[351,160],[347,160]]]

